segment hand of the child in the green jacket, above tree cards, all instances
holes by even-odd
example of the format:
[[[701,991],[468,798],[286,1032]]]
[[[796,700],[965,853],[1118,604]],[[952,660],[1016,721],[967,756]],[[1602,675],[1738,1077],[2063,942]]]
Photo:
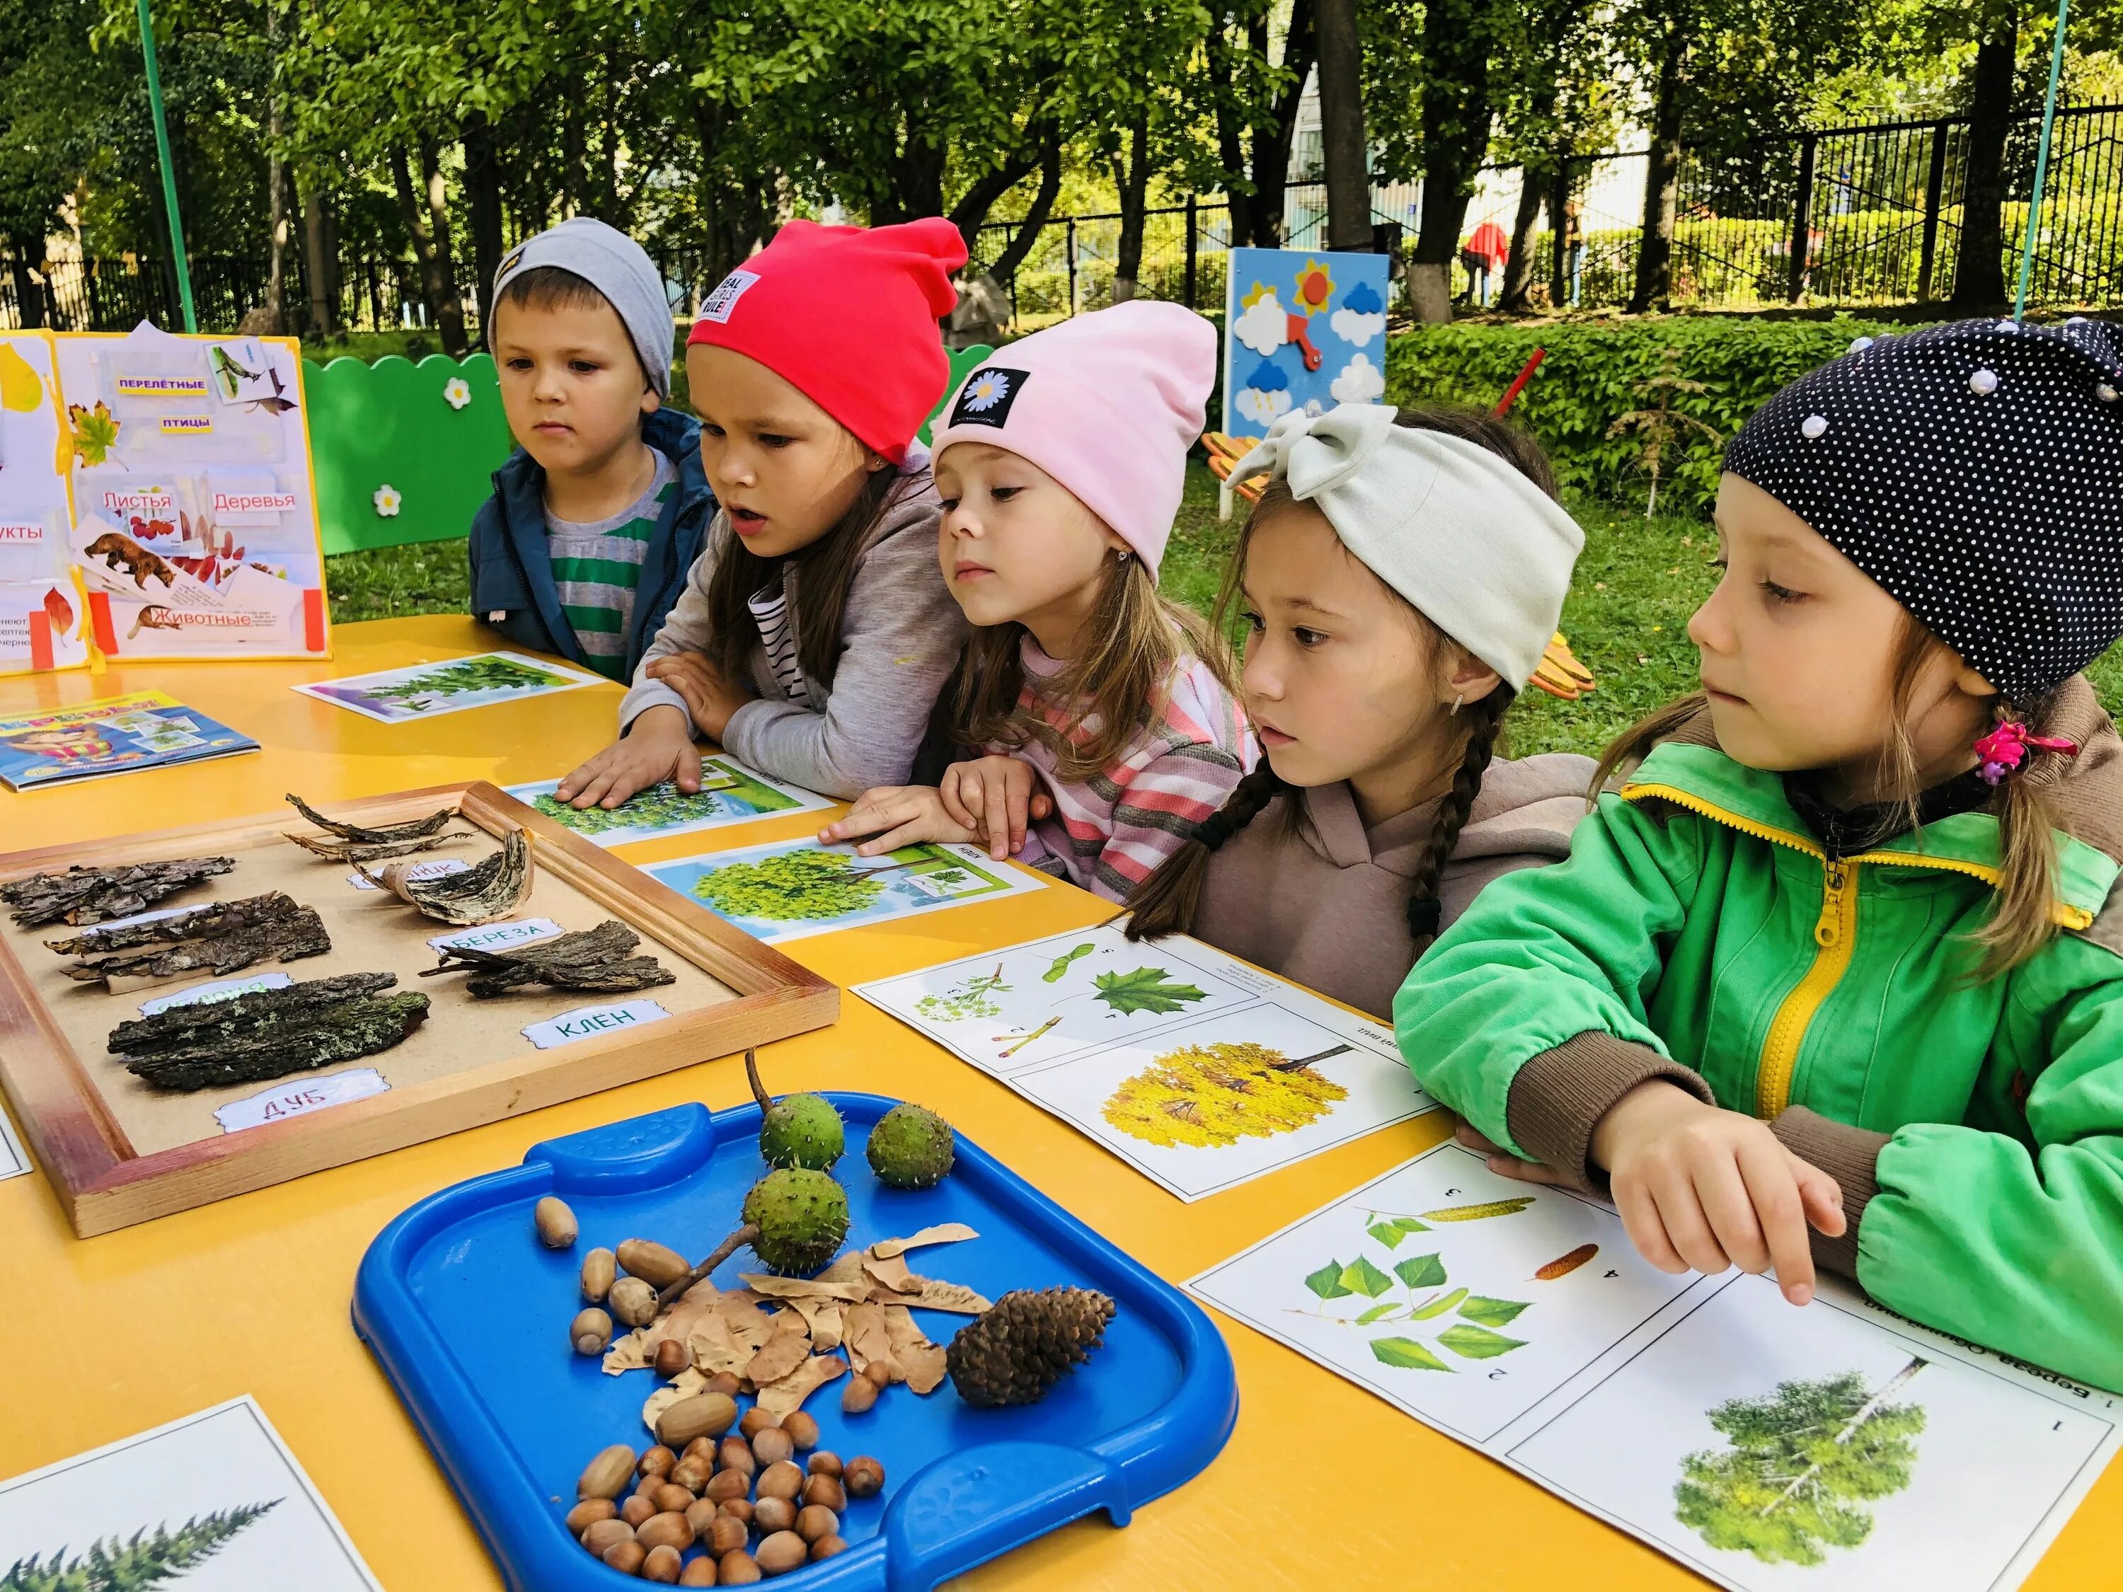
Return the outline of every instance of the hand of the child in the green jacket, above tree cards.
[[[1592,1129],[1630,1242],[1660,1271],[1707,1276],[1777,1267],[1783,1297],[1813,1297],[1807,1225],[1845,1229],[1843,1191],[1792,1155],[1768,1123],[1705,1106],[1664,1080],[1641,1083]]]

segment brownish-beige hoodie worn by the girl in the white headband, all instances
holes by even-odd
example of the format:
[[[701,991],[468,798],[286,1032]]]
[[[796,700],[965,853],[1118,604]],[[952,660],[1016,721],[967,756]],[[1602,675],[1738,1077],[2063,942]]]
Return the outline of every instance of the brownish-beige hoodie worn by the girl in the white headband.
[[[1490,879],[1567,858],[1590,783],[1592,760],[1573,754],[1492,762],[1439,879],[1439,928]],[[1384,1017],[1416,959],[1408,879],[1437,802],[1365,830],[1346,783],[1306,790],[1295,828],[1287,800],[1272,800],[1210,855],[1193,934]]]

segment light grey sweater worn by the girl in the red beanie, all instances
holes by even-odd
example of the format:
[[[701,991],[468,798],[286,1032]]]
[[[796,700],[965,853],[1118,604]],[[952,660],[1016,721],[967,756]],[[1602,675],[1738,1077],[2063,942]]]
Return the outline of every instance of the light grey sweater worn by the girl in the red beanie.
[[[766,647],[754,633],[747,656],[752,679],[743,683],[758,696],[739,707],[722,732],[730,756],[824,796],[853,798],[873,785],[907,783],[928,732],[930,709],[966,643],[966,616],[943,584],[936,558],[936,522],[943,509],[930,480],[928,450],[919,444],[909,448],[900,475],[847,586],[832,683],[805,671],[805,694],[811,700],[790,700],[775,683]],[[652,707],[686,711],[686,698],[660,679],[650,679],[648,667],[673,652],[707,650],[713,630],[707,586],[730,535],[730,516],[718,512],[707,526],[707,546],[686,577],[686,590],[641,656],[633,688],[620,703],[622,732]],[[781,567],[792,630],[805,603],[802,573],[800,558]]]

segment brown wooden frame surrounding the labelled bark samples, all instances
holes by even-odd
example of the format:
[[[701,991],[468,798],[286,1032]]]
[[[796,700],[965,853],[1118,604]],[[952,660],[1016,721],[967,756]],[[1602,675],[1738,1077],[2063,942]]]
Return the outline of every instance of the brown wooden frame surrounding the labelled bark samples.
[[[30,970],[13,945],[0,940],[0,1083],[6,1085],[38,1165],[81,1238],[637,1083],[839,1019],[836,985],[486,781],[333,802],[321,811],[355,824],[393,824],[425,817],[444,804],[454,804],[465,821],[493,836],[524,830],[541,870],[639,930],[643,940],[656,942],[645,949],[684,957],[722,983],[732,998],[639,1029],[575,1040],[552,1051],[524,1046],[505,1061],[393,1087],[280,1123],[138,1153]],[[115,866],[284,847],[289,843],[280,836],[291,828],[304,824],[291,811],[280,811],[15,851],[0,855],[0,881],[68,864]],[[427,919],[420,923],[433,932],[446,928]],[[64,932],[64,925],[53,928]],[[291,964],[289,970],[297,979],[316,976],[304,972],[301,964]],[[577,1004],[592,1002],[594,998],[582,998]],[[98,1057],[98,1063],[108,1063],[108,1057]]]

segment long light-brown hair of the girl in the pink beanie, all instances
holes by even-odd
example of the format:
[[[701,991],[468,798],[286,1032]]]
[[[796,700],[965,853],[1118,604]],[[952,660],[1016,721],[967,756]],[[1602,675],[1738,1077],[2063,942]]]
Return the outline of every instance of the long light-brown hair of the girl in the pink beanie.
[[[1104,565],[1085,626],[1089,645],[1040,681],[1036,696],[1059,724],[1019,707],[1025,690],[1017,620],[979,626],[960,658],[951,698],[951,739],[966,747],[1017,749],[1038,741],[1055,758],[1055,777],[1083,781],[1127,751],[1136,732],[1163,717],[1172,677],[1187,656],[1208,664],[1216,683],[1238,694],[1223,630],[1157,594],[1157,575],[1134,554]]]

